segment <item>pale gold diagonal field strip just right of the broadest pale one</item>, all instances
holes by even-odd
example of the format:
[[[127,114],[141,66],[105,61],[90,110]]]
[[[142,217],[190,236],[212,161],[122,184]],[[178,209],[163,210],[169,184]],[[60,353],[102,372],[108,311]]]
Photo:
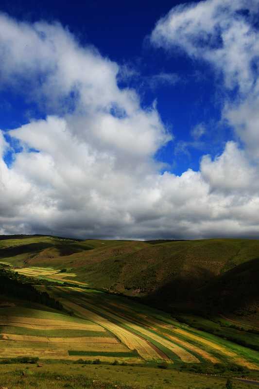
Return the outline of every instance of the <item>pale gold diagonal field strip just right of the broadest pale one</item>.
[[[84,303],[90,309],[94,309],[94,307],[89,302],[85,302],[85,299],[84,299]],[[104,313],[104,315],[108,315],[108,317],[113,318],[114,320],[118,321],[119,323],[121,323],[121,325],[126,324],[128,327],[130,327],[134,331],[138,331],[138,333],[140,333],[144,336],[148,336],[150,339],[154,340],[155,342],[166,347],[168,350],[172,351],[173,354],[177,355],[183,362],[187,362],[187,363],[190,363],[190,362],[199,363],[200,362],[199,359],[196,358],[196,356],[194,356],[193,354],[190,354],[188,351],[186,351],[182,347],[178,346],[177,344],[171,342],[170,340],[168,340],[162,336],[156,335],[153,331],[149,331],[147,328],[144,328],[142,326],[139,326],[137,324],[130,322],[128,320],[128,318],[125,321],[125,319],[124,320],[121,319],[120,316],[112,314],[110,311],[106,311],[106,310],[100,308],[99,306],[98,306],[98,311],[100,311],[101,313]]]

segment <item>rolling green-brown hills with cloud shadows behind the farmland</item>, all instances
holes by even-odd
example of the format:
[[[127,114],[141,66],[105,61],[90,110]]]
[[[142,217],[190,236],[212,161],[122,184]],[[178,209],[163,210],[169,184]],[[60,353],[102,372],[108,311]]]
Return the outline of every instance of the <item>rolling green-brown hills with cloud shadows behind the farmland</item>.
[[[70,282],[135,296],[173,311],[256,314],[259,240],[0,240],[0,261],[68,272]],[[73,279],[69,279],[73,274]]]

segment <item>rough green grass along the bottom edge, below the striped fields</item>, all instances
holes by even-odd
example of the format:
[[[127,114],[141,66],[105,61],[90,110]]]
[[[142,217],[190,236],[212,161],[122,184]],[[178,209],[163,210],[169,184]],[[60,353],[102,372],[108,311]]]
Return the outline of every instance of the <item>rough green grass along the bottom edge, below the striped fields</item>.
[[[0,386],[8,389],[224,389],[225,383],[223,377],[135,366],[0,366]],[[234,389],[250,387],[233,381]]]

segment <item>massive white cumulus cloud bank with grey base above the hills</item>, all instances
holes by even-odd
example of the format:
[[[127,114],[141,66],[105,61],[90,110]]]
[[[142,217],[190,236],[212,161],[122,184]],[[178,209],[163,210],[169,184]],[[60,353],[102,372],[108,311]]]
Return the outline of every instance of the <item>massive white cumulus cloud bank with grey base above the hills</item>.
[[[185,29],[211,23],[214,14],[206,4],[214,3],[220,1],[177,8],[158,22],[153,38],[175,12],[180,44],[189,50]],[[190,10],[195,17],[184,21]],[[155,105],[144,109],[135,90],[118,87],[119,64],[81,46],[58,23],[22,23],[5,15],[0,15],[0,55],[0,88],[13,88],[44,112],[43,119],[8,131],[22,147],[9,168],[3,158],[11,146],[0,132],[0,233],[257,236],[258,167],[248,143],[243,151],[228,142],[217,158],[204,156],[198,172],[161,174],[155,154],[172,135]],[[233,82],[240,83],[237,72]],[[230,75],[228,70],[226,80]],[[240,88],[254,88],[250,75],[245,77],[246,87]],[[240,137],[249,133],[252,121],[244,126],[242,113],[232,113],[235,106],[225,109]],[[197,127],[193,136],[202,134]]]

